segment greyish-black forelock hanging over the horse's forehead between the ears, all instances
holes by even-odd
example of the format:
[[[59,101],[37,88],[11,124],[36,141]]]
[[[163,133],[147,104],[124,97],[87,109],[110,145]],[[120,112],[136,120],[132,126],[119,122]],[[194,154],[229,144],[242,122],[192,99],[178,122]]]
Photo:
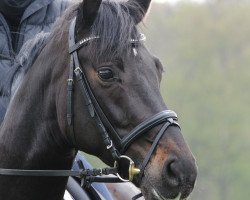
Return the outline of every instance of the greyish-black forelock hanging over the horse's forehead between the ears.
[[[138,37],[133,16],[127,2],[103,1],[91,28],[92,36],[99,36],[86,47],[91,59],[113,59],[131,52],[131,39]]]

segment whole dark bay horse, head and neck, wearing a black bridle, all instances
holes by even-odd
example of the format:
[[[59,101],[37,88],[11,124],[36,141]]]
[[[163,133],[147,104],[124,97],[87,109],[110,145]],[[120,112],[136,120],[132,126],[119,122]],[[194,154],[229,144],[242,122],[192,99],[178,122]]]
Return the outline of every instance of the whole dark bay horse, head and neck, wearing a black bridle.
[[[160,95],[162,65],[137,29],[149,5],[84,0],[57,21],[33,65],[20,69],[0,130],[1,169],[71,169],[77,150],[108,165],[125,154],[141,169],[133,183],[145,199],[189,196],[195,159]],[[59,200],[66,183],[0,175],[0,199]]]

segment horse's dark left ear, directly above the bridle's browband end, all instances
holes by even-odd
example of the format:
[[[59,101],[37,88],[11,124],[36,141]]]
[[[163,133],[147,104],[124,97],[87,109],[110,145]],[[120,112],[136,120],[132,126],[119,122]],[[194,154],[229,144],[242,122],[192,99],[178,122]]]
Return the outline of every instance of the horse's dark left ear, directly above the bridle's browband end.
[[[81,24],[84,29],[89,29],[95,21],[102,0],[83,0],[80,4],[77,24]]]

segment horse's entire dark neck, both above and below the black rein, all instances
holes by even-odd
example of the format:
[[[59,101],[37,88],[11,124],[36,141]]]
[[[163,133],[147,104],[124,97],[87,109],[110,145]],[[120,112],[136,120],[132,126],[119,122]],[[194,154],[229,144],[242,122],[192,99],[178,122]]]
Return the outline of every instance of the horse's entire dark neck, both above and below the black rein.
[[[71,168],[75,152],[59,125],[66,110],[60,99],[66,99],[67,55],[54,43],[48,42],[12,97],[0,130],[0,168]],[[0,199],[62,199],[66,183],[61,177],[0,176]]]

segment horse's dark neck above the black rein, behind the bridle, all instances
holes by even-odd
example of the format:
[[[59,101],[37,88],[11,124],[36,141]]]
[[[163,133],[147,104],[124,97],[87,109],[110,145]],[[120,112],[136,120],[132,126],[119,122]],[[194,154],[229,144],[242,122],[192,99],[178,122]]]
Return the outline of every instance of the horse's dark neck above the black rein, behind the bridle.
[[[57,106],[67,63],[57,60],[67,55],[54,43],[48,42],[11,100],[0,132],[0,167],[71,167],[74,152],[63,137]]]

